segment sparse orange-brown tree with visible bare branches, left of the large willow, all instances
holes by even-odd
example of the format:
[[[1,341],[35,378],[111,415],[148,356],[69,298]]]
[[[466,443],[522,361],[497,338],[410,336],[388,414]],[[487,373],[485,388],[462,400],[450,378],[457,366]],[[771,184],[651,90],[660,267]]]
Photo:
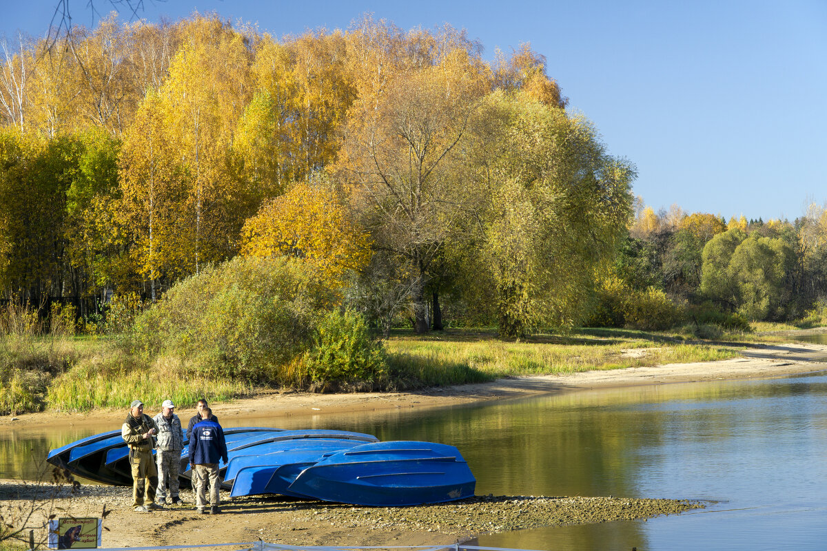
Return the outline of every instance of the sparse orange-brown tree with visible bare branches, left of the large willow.
[[[463,153],[487,85],[473,53],[463,36],[443,31],[421,69],[364,81],[370,96],[349,112],[340,178],[354,188],[376,247],[405,265],[418,333],[429,329],[425,289],[434,259],[478,202]]]

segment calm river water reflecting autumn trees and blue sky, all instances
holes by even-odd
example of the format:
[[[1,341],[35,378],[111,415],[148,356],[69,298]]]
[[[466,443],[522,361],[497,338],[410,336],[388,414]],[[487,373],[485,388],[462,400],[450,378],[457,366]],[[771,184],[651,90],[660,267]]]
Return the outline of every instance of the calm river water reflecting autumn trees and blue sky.
[[[181,413],[189,418],[189,411]],[[827,549],[825,374],[570,392],[438,411],[248,418],[240,424],[453,444],[476,475],[477,495],[714,501],[705,511],[648,522],[480,536],[480,545]],[[33,459],[48,449],[113,428],[60,435],[3,430],[0,476],[31,476]]]

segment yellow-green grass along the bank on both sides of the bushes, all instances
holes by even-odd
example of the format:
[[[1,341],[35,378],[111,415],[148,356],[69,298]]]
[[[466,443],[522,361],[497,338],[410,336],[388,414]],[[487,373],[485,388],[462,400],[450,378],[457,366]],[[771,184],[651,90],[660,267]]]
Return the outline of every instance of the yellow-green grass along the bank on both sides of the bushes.
[[[722,335],[715,341],[700,341],[674,332],[582,329],[509,341],[500,340],[495,330],[446,330],[429,335],[400,330],[384,340],[390,373],[387,388],[713,361],[733,358],[744,345],[767,339],[789,338]],[[164,356],[144,359],[112,338],[4,339],[0,362],[2,415],[43,409],[117,409],[135,397],[154,407],[166,398],[190,406],[200,397],[227,401],[256,391],[251,383],[214,368]]]

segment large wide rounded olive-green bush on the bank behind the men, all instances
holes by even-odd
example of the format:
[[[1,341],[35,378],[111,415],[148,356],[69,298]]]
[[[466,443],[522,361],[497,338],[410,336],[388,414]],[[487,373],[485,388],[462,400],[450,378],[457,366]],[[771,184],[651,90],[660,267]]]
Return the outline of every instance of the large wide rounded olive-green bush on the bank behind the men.
[[[280,369],[308,349],[335,298],[309,269],[249,257],[206,268],[138,316],[128,344],[232,379],[282,382]]]

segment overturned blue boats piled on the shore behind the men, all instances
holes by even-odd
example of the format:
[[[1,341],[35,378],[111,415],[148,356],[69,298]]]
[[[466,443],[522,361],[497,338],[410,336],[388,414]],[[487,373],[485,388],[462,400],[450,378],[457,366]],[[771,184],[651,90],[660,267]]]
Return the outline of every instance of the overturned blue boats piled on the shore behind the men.
[[[476,479],[459,450],[419,441],[380,442],[347,430],[224,429],[229,463],[219,463],[230,496],[280,494],[361,506],[414,506],[474,495]],[[189,485],[184,441],[180,478]],[[49,452],[46,461],[93,482],[131,486],[120,430]],[[155,452],[153,452],[155,453]]]

